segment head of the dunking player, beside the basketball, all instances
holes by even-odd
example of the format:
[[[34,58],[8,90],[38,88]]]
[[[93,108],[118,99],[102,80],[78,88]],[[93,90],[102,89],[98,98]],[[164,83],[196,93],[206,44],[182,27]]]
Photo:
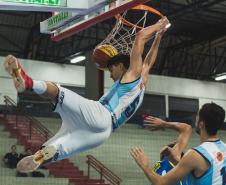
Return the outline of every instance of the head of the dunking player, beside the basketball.
[[[128,55],[116,55],[108,61],[108,69],[111,73],[111,78],[116,81],[128,70],[130,57]]]

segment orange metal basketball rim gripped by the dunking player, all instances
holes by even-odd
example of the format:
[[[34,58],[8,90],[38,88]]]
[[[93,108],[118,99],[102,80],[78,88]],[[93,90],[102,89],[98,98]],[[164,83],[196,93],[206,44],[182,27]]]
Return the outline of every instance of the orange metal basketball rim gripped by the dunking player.
[[[138,6],[135,6],[134,8],[132,8],[132,10],[144,10],[144,11],[148,11],[148,12],[154,13],[154,14],[158,15],[158,16],[161,17],[161,18],[164,17],[164,15],[163,15],[161,12],[159,12],[158,10],[156,10],[156,9],[150,7],[150,6],[146,6],[146,5],[138,5]],[[137,26],[137,25],[135,25],[135,24],[133,24],[133,23],[127,21],[127,20],[126,20],[125,18],[123,18],[120,14],[115,15],[115,18],[116,18],[117,20],[122,21],[122,23],[125,24],[126,26],[129,26],[129,27],[136,27],[136,28],[138,28],[138,29],[143,29],[143,28],[144,28],[144,27],[142,27],[142,26]]]

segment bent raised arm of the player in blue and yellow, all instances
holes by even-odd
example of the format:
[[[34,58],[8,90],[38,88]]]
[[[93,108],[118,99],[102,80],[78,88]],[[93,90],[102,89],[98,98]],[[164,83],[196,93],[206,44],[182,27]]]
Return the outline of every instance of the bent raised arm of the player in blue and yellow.
[[[168,128],[176,130],[179,135],[177,137],[176,143],[174,147],[171,149],[170,147],[165,148],[166,155],[171,154],[174,157],[175,162],[178,162],[181,158],[181,153],[186,148],[189,139],[192,134],[192,127],[186,123],[178,123],[178,122],[167,122],[159,118],[155,118],[152,116],[148,116],[145,118],[145,126],[150,130],[160,129],[160,128]]]

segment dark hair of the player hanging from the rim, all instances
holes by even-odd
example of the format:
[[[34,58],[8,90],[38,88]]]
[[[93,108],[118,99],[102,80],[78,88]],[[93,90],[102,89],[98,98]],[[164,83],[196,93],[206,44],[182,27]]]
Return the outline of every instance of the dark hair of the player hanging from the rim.
[[[122,63],[126,69],[129,69],[130,56],[123,54],[116,55],[108,61],[107,67],[109,69],[112,65],[118,65],[120,63]]]

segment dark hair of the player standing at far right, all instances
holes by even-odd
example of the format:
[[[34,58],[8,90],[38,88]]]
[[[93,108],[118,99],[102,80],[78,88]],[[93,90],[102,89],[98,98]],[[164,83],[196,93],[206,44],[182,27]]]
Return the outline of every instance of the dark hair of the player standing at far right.
[[[225,118],[224,109],[215,103],[206,103],[199,110],[199,121],[205,124],[206,132],[210,136],[216,135],[223,126]]]

